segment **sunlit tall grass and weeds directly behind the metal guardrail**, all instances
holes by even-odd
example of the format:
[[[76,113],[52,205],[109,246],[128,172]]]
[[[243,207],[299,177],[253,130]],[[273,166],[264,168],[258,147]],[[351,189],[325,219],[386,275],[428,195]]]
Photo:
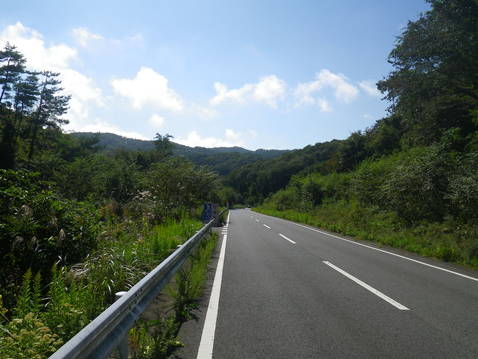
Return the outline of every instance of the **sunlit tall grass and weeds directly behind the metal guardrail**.
[[[60,259],[45,289],[40,273],[27,271],[16,307],[0,302],[0,358],[48,357],[202,226],[187,216],[156,226],[108,221],[97,249],[70,268]]]

